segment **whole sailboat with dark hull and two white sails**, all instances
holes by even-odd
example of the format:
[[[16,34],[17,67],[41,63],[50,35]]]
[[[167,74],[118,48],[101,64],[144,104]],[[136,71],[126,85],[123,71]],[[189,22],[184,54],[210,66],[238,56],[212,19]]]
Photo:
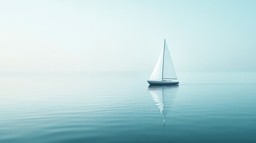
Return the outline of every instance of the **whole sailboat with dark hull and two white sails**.
[[[179,83],[172,63],[171,54],[165,41],[164,49],[158,58],[158,63],[156,63],[155,69],[147,82],[150,85],[176,85]]]

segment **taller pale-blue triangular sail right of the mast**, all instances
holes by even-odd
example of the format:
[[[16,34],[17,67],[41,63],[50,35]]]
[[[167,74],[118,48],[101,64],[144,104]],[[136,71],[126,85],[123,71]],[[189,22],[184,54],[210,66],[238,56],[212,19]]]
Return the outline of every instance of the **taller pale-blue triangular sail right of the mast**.
[[[163,79],[177,79],[176,72],[174,69],[174,65],[172,63],[171,54],[169,52],[169,48],[167,43],[164,45],[164,67],[163,67]]]

